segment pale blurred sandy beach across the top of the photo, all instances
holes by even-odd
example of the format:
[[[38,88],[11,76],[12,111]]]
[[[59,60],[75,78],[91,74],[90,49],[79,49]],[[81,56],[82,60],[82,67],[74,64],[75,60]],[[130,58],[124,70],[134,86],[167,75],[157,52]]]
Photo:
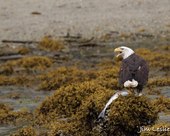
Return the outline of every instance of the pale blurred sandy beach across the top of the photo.
[[[170,29],[169,0],[1,0],[0,40]]]

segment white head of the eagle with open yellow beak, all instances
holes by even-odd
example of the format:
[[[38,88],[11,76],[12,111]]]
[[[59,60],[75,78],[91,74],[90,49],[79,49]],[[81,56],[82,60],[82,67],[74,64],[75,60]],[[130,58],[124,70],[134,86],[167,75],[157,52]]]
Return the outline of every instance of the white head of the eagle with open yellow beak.
[[[125,46],[121,46],[118,47],[114,50],[116,57],[122,57],[123,59],[126,59],[127,57],[129,57],[130,55],[132,55],[134,53],[134,51],[128,47]]]

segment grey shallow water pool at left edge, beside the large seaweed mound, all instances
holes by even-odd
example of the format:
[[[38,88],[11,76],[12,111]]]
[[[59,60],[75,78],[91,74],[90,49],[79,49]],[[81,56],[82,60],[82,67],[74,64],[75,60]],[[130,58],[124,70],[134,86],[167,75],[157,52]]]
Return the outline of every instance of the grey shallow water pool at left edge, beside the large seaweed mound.
[[[11,98],[13,93],[18,94],[18,98]],[[1,86],[0,94],[0,102],[11,105],[14,110],[27,108],[33,111],[47,95],[50,95],[50,92],[35,91],[25,87]]]

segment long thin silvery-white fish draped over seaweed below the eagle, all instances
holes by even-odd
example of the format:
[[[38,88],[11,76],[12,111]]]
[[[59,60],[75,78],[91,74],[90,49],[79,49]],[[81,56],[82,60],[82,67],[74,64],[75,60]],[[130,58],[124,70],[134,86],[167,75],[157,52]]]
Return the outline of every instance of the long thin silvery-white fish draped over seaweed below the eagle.
[[[99,114],[98,118],[104,118],[105,116],[105,112],[106,112],[106,109],[109,107],[109,105],[114,101],[116,100],[119,95],[122,95],[122,96],[126,96],[128,95],[129,93],[127,91],[121,91],[121,92],[117,92],[116,94],[114,94],[110,99],[109,101],[106,103],[104,109],[102,110],[102,112]]]

